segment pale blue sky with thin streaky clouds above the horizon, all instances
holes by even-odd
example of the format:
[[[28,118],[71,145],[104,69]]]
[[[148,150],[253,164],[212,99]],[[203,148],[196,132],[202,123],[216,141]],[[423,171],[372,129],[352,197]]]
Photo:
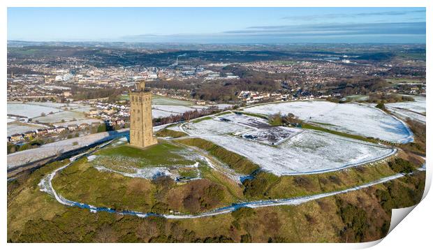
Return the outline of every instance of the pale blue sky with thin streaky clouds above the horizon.
[[[8,8],[8,40],[425,43],[425,8]]]

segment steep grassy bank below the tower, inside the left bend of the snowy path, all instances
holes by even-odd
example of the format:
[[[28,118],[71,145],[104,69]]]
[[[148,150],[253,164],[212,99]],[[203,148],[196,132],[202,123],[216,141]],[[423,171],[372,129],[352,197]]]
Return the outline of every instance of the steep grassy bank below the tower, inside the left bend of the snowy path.
[[[61,196],[69,200],[140,212],[169,213],[171,210],[196,213],[236,201],[221,182],[197,179],[176,184],[170,177],[125,177],[115,172],[96,170],[87,159],[59,172],[52,184]]]

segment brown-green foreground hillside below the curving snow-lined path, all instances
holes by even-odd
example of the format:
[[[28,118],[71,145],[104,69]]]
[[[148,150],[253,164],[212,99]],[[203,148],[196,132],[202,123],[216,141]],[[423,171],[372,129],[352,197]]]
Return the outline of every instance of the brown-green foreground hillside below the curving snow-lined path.
[[[8,183],[8,242],[367,242],[386,234],[391,207],[420,200],[425,177],[418,172],[298,206],[168,220],[60,205],[37,186],[52,169]]]

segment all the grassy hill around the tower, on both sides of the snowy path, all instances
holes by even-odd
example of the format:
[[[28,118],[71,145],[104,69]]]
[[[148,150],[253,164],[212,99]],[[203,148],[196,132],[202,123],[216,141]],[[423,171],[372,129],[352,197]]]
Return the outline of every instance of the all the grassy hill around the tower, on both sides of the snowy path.
[[[258,166],[248,159],[212,142],[198,138],[175,142],[161,142],[145,150],[126,145],[107,147],[97,154],[112,159],[139,159],[147,164],[173,159],[185,163],[191,160],[179,152],[188,145],[253,178],[239,184],[200,164],[202,179],[176,183],[169,177],[143,179],[102,172],[92,165],[97,159],[80,159],[61,170],[52,184],[61,196],[81,203],[119,210],[196,214],[246,200],[347,189],[396,172],[411,172],[420,163],[413,155],[399,152],[388,162],[316,175],[277,177],[257,171]],[[243,207],[229,214],[173,220],[94,214],[61,205],[40,191],[38,183],[66,163],[51,163],[8,182],[8,242],[366,242],[386,235],[392,208],[418,203],[425,182],[425,172],[416,171],[391,182],[302,205]]]

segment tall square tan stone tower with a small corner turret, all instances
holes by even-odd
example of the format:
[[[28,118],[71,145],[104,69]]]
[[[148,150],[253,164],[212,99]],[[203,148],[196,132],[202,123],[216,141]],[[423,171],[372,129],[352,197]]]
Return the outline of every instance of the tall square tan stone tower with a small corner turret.
[[[139,82],[135,91],[129,92],[131,102],[131,128],[129,144],[148,147],[158,143],[152,130],[152,93],[145,91],[145,82]]]

